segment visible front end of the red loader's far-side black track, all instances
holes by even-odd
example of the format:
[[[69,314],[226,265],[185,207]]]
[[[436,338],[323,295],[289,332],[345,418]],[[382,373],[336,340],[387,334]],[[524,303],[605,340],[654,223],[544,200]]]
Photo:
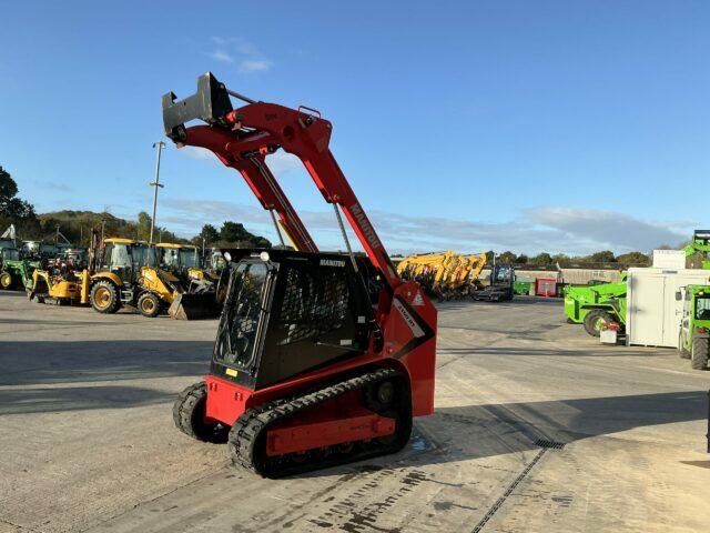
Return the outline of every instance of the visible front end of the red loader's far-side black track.
[[[173,422],[185,435],[197,441],[224,443],[229,429],[222,424],[206,424],[207,384],[204,381],[184,389],[173,404]]]

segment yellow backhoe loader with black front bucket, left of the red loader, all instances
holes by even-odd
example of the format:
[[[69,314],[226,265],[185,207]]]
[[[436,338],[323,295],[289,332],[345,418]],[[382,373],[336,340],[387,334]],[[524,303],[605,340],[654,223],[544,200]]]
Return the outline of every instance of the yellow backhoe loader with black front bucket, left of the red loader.
[[[34,271],[29,296],[39,302],[91,304],[100,313],[130,305],[151,318],[165,308],[174,319],[216,315],[210,299],[205,305],[200,298],[182,298],[187,289],[173,273],[158,268],[154,245],[111,238],[98,250],[92,248],[91,255],[90,268],[81,273]]]

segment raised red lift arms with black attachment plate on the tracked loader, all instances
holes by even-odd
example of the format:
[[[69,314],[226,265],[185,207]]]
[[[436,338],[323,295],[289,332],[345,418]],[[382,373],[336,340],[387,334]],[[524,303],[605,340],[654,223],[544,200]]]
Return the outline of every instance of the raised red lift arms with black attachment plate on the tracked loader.
[[[232,109],[230,94],[248,103]],[[172,92],[163,95],[163,123],[168,137],[178,145],[206,148],[225,165],[239,170],[262,207],[276,211],[282,227],[300,250],[316,252],[317,248],[266,164],[265,157],[280,148],[301,159],[326,202],[339,205],[367,257],[389,285],[402,284],[379,237],[328,148],[331,122],[317,112],[302,111],[305,108],[294,110],[248,100],[227,91],[210,72],[199,78],[196,94],[180,101],[175,98]],[[201,119],[209,125],[185,128],[193,119]]]

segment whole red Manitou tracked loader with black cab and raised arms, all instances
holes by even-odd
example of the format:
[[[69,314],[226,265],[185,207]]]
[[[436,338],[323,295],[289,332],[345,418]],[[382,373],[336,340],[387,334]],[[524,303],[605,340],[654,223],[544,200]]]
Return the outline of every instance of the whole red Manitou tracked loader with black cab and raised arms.
[[[230,97],[245,104],[233,109]],[[204,123],[185,125],[195,119]],[[163,97],[163,122],[179,147],[237,170],[296,249],[225,253],[210,372],[176,399],[175,425],[226,441],[235,465],[270,477],[400,450],[412,418],[434,410],[436,310],[393,268],[331,153],[331,122],[250,100],[211,73],[196,94]],[[266,164],[278,149],[303,161],[333,204],[348,254],[316,248]],[[351,252],[341,211],[366,258]]]

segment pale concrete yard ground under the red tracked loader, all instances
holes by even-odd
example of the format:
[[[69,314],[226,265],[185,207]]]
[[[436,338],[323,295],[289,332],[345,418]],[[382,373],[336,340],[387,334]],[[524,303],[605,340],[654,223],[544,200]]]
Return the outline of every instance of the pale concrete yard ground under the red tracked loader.
[[[215,326],[1,292],[0,531],[708,531],[710,373],[601,346],[558,301],[444,304],[409,446],[280,481],[173,428]]]

